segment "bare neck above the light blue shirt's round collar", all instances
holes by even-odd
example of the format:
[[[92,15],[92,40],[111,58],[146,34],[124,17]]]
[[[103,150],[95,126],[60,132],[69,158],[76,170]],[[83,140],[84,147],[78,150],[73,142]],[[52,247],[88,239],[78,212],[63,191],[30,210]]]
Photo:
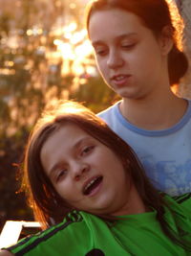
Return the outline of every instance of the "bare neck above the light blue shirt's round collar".
[[[180,121],[187,109],[187,101],[169,90],[153,98],[123,99],[119,109],[134,126],[160,130],[171,128]]]

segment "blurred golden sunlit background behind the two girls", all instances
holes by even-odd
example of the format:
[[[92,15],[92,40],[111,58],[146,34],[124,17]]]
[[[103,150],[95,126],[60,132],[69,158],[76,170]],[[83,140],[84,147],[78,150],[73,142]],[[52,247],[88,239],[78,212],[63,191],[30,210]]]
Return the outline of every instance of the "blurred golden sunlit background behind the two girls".
[[[74,99],[98,112],[117,101],[97,73],[86,37],[87,2],[0,0],[0,232],[7,220],[33,220],[19,193],[18,165],[43,106]],[[176,2],[182,11],[182,1]],[[190,44],[184,41],[189,56]],[[191,98],[187,81],[189,76],[175,89]]]

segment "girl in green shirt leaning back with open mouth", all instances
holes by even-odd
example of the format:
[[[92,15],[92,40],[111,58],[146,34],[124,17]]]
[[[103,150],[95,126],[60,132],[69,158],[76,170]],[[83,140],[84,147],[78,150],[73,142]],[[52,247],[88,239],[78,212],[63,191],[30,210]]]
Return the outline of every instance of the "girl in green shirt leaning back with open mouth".
[[[134,151],[82,105],[45,112],[29,139],[24,172],[36,220],[57,224],[1,256],[191,253],[191,195],[159,193]]]

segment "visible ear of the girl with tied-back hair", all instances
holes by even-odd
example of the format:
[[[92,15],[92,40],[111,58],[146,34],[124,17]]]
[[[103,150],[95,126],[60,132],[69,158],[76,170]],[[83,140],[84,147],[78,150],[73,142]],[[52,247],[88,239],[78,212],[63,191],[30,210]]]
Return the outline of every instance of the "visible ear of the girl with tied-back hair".
[[[171,51],[171,49],[173,48],[173,44],[174,44],[173,28],[169,26],[165,26],[162,29],[159,41],[160,41],[160,47],[161,47],[161,54],[163,56],[167,56]]]

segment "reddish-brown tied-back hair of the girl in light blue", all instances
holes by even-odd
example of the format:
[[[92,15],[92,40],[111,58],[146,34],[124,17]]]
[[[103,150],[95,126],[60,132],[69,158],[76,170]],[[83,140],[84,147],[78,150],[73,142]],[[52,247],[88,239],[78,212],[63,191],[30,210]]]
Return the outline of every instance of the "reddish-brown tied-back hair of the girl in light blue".
[[[165,0],[93,0],[86,8],[86,28],[89,31],[91,16],[95,12],[111,9],[121,9],[136,14],[143,25],[154,35],[159,36],[164,27],[170,28],[171,38],[174,41],[168,55],[168,74],[170,84],[177,84],[188,69],[188,59],[178,48],[176,34],[171,13]]]

